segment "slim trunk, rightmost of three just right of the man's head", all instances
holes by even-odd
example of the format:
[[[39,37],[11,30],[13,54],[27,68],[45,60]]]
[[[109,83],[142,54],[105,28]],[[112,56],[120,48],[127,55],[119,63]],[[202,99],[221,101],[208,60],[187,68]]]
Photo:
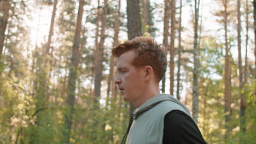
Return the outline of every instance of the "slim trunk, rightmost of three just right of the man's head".
[[[179,87],[181,81],[181,31],[182,31],[182,0],[179,3],[179,47],[178,47],[178,74],[177,74],[177,99],[179,100],[181,97],[179,95]]]

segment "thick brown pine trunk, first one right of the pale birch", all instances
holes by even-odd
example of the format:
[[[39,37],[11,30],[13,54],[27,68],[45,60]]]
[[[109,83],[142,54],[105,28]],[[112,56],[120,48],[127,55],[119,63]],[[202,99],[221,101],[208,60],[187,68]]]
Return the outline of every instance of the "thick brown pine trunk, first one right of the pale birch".
[[[225,128],[228,136],[230,132],[229,122],[231,116],[231,73],[230,73],[230,61],[229,61],[229,47],[228,47],[228,12],[227,12],[227,1],[223,1],[224,5],[224,29],[225,29],[225,90],[224,90],[224,113],[225,113]]]

